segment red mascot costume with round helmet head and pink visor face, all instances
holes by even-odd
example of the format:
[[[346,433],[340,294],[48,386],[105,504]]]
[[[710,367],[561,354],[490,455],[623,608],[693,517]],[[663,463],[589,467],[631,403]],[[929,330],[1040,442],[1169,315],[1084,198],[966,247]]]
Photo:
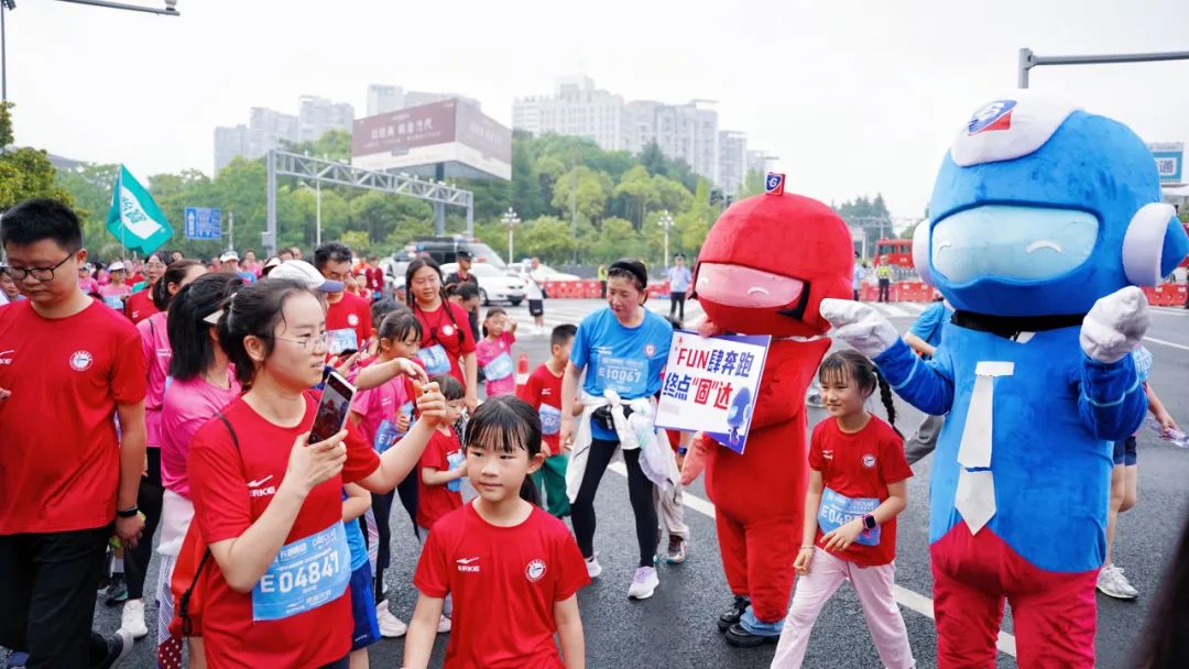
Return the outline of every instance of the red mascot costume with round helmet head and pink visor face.
[[[781,185],[779,175],[769,175],[774,183]],[[705,467],[735,594],[718,629],[737,646],[780,637],[809,480],[805,392],[830,348],[823,336],[830,323],[818,305],[851,295],[847,225],[825,204],[781,190],[724,212],[694,267],[694,295],[707,316],[703,334],[773,337],[744,454],[705,438],[691,449],[682,476],[692,480]]]

